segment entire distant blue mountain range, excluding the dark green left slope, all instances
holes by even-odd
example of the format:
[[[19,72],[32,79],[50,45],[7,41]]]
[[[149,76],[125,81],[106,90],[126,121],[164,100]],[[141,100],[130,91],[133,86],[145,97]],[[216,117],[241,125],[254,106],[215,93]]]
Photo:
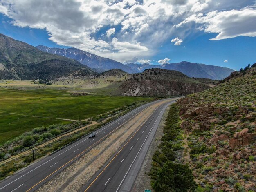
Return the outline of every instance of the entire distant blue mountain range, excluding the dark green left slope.
[[[182,61],[180,63],[164,63],[163,65],[150,65],[148,63],[137,64],[127,63],[122,64],[109,58],[103,58],[95,54],[91,54],[76,48],[50,48],[43,45],[36,46],[41,51],[65,56],[68,58],[75,59],[80,63],[87,65],[97,72],[107,71],[109,69],[121,69],[127,73],[140,73],[145,69],[161,68],[180,71],[189,77],[196,78],[209,78],[214,80],[221,80],[229,76],[234,70],[226,67],[218,67],[213,65],[205,65],[198,63],[191,63]]]

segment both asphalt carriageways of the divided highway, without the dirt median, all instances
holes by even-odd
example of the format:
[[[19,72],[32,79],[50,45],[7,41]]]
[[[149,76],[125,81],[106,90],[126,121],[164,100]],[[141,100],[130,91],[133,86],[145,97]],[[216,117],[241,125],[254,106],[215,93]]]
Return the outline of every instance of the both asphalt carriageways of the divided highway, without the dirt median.
[[[174,99],[175,98],[173,98],[173,100]],[[166,99],[166,102],[168,100],[170,101],[170,99]],[[159,101],[142,105],[124,116],[119,117],[117,120],[106,124],[96,131],[96,137],[93,139],[89,139],[88,137],[81,138],[80,140],[52,154],[51,156],[47,156],[44,159],[31,164],[20,172],[13,174],[7,179],[4,179],[0,182],[0,192],[27,192],[38,189],[56,174],[76,161],[76,159],[79,159],[80,156],[92,149],[92,147],[103,141],[110,134],[115,132],[115,130],[119,129],[126,122],[134,118],[139,112],[157,102]],[[153,126],[157,119],[162,118],[160,113],[164,111],[164,107],[166,107],[166,103],[164,105],[160,105],[148,118],[148,120],[143,125],[138,127],[135,134],[129,138],[127,144],[120,147],[116,153],[117,156],[115,158],[112,157],[111,159],[113,160],[109,160],[111,161],[110,165],[104,165],[106,169],[104,167],[101,168],[101,170],[104,169],[104,174],[98,173],[99,177],[96,180],[94,178],[94,182],[89,182],[88,186],[91,184],[90,188],[85,186],[85,189],[88,188],[88,191],[113,191],[110,189],[118,189],[119,184],[121,183],[119,180],[123,179],[123,173],[121,172],[125,173],[129,169],[130,161],[136,156],[139,146],[143,144],[148,132],[151,129],[150,127]],[[110,167],[112,168],[110,169]],[[95,176],[97,176],[97,174]],[[96,183],[99,186],[97,186]]]

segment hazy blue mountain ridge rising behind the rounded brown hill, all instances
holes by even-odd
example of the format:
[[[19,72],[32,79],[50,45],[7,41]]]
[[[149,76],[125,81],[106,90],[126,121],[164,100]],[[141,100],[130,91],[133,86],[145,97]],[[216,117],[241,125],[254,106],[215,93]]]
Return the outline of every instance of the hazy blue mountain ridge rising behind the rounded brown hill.
[[[182,61],[180,63],[165,63],[163,65],[150,65],[150,64],[137,64],[137,63],[127,63],[126,65],[136,70],[137,72],[142,72],[145,69],[161,68],[161,69],[180,71],[189,77],[208,78],[213,80],[224,79],[227,76],[229,76],[232,72],[234,72],[233,69],[229,69],[227,67],[191,63],[187,61]]]

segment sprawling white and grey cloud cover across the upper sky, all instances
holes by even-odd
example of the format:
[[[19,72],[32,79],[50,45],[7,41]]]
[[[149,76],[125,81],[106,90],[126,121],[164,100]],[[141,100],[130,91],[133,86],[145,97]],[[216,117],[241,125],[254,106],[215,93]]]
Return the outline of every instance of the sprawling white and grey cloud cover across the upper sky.
[[[252,0],[0,0],[0,13],[12,25],[46,30],[59,45],[119,61],[146,58],[173,36],[180,45],[198,29],[216,33],[212,40],[256,36]]]

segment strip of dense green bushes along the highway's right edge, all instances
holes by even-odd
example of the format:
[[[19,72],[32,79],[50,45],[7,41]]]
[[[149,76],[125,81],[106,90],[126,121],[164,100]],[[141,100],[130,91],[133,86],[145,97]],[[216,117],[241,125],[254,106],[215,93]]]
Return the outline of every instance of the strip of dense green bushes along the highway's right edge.
[[[196,183],[188,164],[180,162],[183,147],[178,108],[171,105],[163,129],[162,143],[153,155],[150,172],[151,186],[156,192],[194,191]]]

